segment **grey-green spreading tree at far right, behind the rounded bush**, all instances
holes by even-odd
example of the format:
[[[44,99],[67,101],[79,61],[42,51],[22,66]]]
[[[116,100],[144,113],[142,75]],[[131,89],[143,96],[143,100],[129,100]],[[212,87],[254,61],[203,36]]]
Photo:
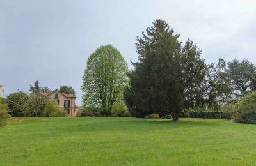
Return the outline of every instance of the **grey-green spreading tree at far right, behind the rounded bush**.
[[[236,96],[244,96],[255,86],[253,80],[256,78],[255,65],[248,60],[239,62],[234,59],[228,63],[228,76],[232,80],[234,94]]]

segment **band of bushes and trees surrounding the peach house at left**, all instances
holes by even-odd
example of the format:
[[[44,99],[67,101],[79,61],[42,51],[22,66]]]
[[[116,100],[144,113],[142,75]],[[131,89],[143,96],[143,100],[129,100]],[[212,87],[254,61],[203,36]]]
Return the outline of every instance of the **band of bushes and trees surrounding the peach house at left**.
[[[34,85],[29,86],[29,93],[18,91],[9,94],[6,99],[0,100],[0,119],[6,117],[57,117],[68,116],[65,110],[60,110],[58,103],[47,98],[45,93],[51,92],[49,87],[40,87],[39,82],[36,81]],[[72,87],[61,86],[60,91],[63,93],[76,94]],[[1,116],[2,115],[2,116]]]

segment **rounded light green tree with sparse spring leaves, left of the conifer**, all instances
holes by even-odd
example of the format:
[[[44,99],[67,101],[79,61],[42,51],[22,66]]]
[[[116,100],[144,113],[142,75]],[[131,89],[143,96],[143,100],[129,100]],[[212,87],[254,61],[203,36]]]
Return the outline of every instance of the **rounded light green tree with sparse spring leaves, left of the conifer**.
[[[86,107],[102,107],[110,116],[113,103],[127,82],[127,63],[112,45],[99,47],[90,55],[83,76],[83,103]]]

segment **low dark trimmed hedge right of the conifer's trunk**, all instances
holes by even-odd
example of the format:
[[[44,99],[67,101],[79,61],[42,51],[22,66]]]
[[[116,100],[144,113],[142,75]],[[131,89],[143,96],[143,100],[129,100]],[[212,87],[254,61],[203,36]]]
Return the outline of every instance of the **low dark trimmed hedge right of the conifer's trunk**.
[[[232,119],[234,112],[190,112],[191,118]]]

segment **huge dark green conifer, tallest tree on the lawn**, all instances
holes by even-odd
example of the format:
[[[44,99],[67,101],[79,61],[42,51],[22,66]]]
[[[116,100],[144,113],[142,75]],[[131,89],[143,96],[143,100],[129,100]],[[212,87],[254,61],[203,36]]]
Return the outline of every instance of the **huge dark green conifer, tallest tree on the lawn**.
[[[132,63],[124,93],[132,116],[171,112],[173,121],[178,121],[185,103],[194,107],[201,100],[199,87],[206,69],[201,51],[191,40],[182,45],[178,38],[165,20],[155,20],[137,38],[139,62]]]

